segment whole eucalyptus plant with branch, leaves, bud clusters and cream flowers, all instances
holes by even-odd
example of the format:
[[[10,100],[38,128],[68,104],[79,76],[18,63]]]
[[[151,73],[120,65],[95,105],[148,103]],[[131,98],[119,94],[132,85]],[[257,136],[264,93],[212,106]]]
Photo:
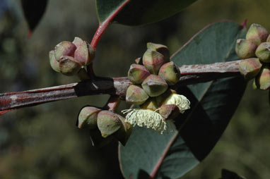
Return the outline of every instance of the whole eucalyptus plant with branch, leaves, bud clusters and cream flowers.
[[[195,0],[96,0],[99,26],[91,42],[74,37],[48,53],[48,63],[79,82],[0,94],[0,115],[27,106],[110,94],[104,106],[82,106],[76,125],[96,147],[119,141],[124,178],[180,178],[211,152],[230,122],[248,80],[270,90],[270,36],[262,26],[230,20],[207,25],[170,56],[165,44],[148,42],[127,77],[95,75],[95,51],[112,23],[143,25],[169,18]],[[47,1],[22,0],[30,32]],[[35,14],[33,12],[41,13]],[[57,75],[57,73],[55,75]],[[120,101],[130,109],[116,109]],[[75,120],[75,119],[74,119]],[[236,174],[235,174],[236,175]],[[240,178],[240,176],[238,176]]]

